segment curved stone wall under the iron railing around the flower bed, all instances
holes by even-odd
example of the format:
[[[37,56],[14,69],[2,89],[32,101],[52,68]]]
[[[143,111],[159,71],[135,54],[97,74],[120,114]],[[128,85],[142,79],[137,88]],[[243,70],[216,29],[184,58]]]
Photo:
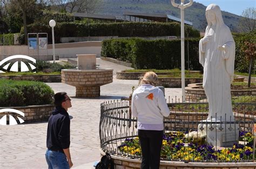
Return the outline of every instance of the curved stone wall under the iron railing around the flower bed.
[[[100,149],[100,156],[104,156],[105,152]],[[117,169],[131,169],[140,168],[141,160],[125,158],[120,156],[111,155],[114,163],[114,168]],[[255,162],[246,163],[184,163],[179,161],[160,161],[160,169],[254,169],[256,166]]]

